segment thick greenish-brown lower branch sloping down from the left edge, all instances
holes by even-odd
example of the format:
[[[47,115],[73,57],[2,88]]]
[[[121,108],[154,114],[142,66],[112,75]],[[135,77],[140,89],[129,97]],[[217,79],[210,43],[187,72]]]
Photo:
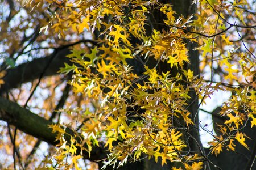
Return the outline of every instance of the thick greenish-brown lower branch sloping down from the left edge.
[[[33,137],[41,139],[51,145],[58,144],[55,140],[56,134],[53,134],[52,129],[49,128],[49,125],[53,124],[51,121],[48,121],[3,97],[0,97],[0,120],[6,121],[11,125],[16,126],[16,128],[24,133],[32,135]],[[67,133],[65,138],[67,138],[68,141],[68,138],[74,136],[75,132],[68,128],[65,128],[65,131]],[[84,147],[86,148],[86,145]],[[78,148],[78,150],[80,150],[80,148]],[[87,152],[83,152],[82,156],[84,159],[97,161],[106,158],[107,153],[108,152],[105,152],[103,147],[94,146],[90,153],[90,157]],[[80,151],[77,151],[77,154],[80,154]]]

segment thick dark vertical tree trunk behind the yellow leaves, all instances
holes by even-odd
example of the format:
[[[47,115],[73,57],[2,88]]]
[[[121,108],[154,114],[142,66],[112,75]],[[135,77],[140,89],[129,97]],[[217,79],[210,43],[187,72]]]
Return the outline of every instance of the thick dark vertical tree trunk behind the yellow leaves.
[[[192,1],[187,1],[187,0],[172,0],[172,1],[162,1],[162,3],[170,3],[172,4],[172,8],[174,9],[174,11],[177,12],[177,17],[179,17],[180,15],[183,16],[188,16],[191,15],[195,12],[196,10],[196,6],[193,5],[192,6]],[[152,22],[154,22],[154,20],[157,18],[158,22],[163,22],[163,16],[161,15],[160,12],[155,12],[153,14],[154,16],[150,16]],[[167,30],[167,27],[164,27],[162,25],[154,25],[155,29],[158,29],[159,31],[162,31],[163,29]],[[148,27],[148,35],[150,35],[150,31],[151,28]],[[191,69],[192,71],[194,71],[195,75],[199,75],[199,53],[195,50],[193,50],[195,48],[194,44],[191,44],[190,42],[187,43],[187,48],[189,50],[189,59],[191,61],[191,65],[188,66],[189,69]],[[157,61],[151,60],[150,62],[147,63],[148,67],[154,67],[156,65]],[[133,65],[135,68],[135,73],[137,74],[142,74],[144,72],[143,67],[141,67],[141,63],[139,62],[134,62],[134,61],[130,61],[129,62],[130,65]],[[158,65],[158,72],[161,73],[166,73],[166,71],[170,71],[171,68],[170,66],[167,65],[166,62],[160,62]],[[175,70],[175,72],[178,70]],[[171,73],[173,73],[174,70],[171,70]],[[195,116],[195,120],[196,123],[198,123],[198,116],[197,116],[197,107],[198,107],[198,99],[197,96],[195,94],[195,92],[191,92],[191,106],[188,108],[188,110],[192,113],[192,117]],[[191,148],[191,151],[196,151],[199,152],[201,150],[203,150],[203,146],[201,145],[201,141],[200,141],[200,136],[199,136],[199,131],[197,129],[191,131],[191,134],[195,137],[197,143],[194,140],[189,141],[189,147]],[[101,167],[102,164],[99,164],[99,167]],[[161,160],[159,158],[158,163],[155,162],[154,158],[151,158],[150,160],[148,160],[147,158],[142,159],[139,162],[133,162],[133,163],[127,163],[125,164],[123,167],[120,167],[118,169],[121,170],[159,170],[159,169],[171,169],[171,167],[180,167],[180,163],[171,163],[168,162],[167,164],[165,164],[163,167],[161,165]],[[112,167],[108,167],[107,169],[112,169]]]

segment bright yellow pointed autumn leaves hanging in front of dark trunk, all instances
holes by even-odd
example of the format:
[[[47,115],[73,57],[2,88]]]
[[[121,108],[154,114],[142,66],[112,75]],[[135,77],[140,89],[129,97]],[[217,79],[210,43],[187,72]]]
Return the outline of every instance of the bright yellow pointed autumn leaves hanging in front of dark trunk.
[[[172,2],[154,0],[19,3],[30,9],[28,16],[44,12],[36,43],[49,41],[47,48],[26,46],[20,54],[71,50],[60,73],[69,76],[72,96],[57,108],[64,121],[49,126],[57,147],[32,167],[82,169],[84,153],[102,147],[108,153],[102,168],[154,159],[176,163],[172,169],[204,169],[218,167],[209,154],[236,152],[238,145],[251,150],[242,131],[256,126],[256,18],[249,1],[193,1],[196,11],[185,16]],[[18,44],[7,33],[1,43]],[[231,95],[215,115],[224,122],[213,133],[198,113],[217,91]],[[213,136],[209,154],[199,130]]]

